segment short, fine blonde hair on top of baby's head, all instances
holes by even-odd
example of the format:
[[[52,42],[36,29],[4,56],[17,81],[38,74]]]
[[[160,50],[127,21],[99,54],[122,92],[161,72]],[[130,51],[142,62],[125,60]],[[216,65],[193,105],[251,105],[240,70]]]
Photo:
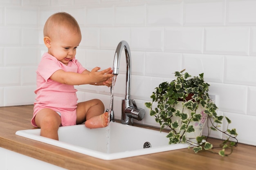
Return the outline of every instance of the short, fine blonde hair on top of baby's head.
[[[44,37],[53,38],[54,35],[59,35],[61,29],[69,29],[81,35],[81,30],[76,19],[66,12],[58,12],[51,15],[44,26]]]

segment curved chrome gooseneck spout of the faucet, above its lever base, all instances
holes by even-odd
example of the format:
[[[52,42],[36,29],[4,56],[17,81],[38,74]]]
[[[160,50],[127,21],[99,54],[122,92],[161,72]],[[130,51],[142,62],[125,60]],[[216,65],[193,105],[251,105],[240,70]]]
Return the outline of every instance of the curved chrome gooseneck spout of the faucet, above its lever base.
[[[112,74],[119,74],[119,64],[120,64],[120,58],[121,58],[121,52],[124,48],[125,55],[126,55],[126,94],[125,94],[125,99],[131,99],[131,91],[130,91],[130,86],[131,86],[131,58],[130,58],[130,47],[126,41],[121,41],[117,45],[117,49],[115,52],[115,57],[114,57],[114,64],[113,64],[113,73]]]

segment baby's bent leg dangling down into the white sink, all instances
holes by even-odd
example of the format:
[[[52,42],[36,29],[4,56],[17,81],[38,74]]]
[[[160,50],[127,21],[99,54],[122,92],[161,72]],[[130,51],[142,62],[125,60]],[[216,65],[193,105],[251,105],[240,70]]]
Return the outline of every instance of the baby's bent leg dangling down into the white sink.
[[[54,110],[43,108],[35,117],[36,125],[41,128],[40,135],[58,140],[58,128],[61,125],[61,117]]]

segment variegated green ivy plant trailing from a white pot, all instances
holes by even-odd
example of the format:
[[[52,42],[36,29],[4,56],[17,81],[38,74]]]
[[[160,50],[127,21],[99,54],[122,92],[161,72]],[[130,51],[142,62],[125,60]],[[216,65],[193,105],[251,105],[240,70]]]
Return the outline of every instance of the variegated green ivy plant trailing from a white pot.
[[[231,120],[217,114],[218,107],[209,97],[210,85],[204,81],[204,73],[192,77],[184,71],[185,69],[176,71],[176,79],[170,83],[162,82],[155,88],[150,96],[152,102],[145,103],[150,109],[150,116],[154,116],[155,121],[160,124],[160,132],[166,128],[170,130],[166,136],[169,138],[169,144],[187,143],[193,146],[195,153],[207,150],[223,157],[230,155],[234,146],[238,144],[236,129],[229,129]],[[200,107],[203,111],[199,111]],[[207,115],[207,118],[204,115]],[[193,122],[206,121],[204,119],[207,119],[208,135],[200,134],[195,137],[196,140],[188,138],[190,133],[195,132]],[[227,121],[225,130],[220,129],[223,121]],[[227,136],[219,147],[213,147],[208,141],[212,130],[220,131]],[[231,150],[227,151],[227,148]]]

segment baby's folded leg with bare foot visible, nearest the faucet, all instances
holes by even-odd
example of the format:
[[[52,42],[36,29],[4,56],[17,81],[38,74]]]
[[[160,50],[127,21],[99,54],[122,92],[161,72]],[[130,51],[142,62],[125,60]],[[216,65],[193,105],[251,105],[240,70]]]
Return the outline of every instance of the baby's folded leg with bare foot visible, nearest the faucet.
[[[76,116],[76,124],[81,124],[85,121],[87,128],[108,126],[108,112],[104,113],[104,105],[99,99],[77,104]]]

